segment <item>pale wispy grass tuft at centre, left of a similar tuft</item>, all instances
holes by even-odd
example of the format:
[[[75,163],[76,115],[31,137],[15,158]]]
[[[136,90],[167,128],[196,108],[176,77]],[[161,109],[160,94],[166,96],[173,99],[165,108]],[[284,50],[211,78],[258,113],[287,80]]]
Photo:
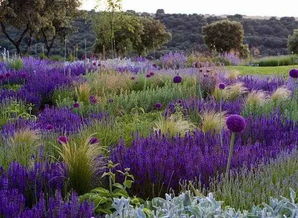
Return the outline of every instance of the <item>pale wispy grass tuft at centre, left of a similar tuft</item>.
[[[177,134],[185,135],[185,133],[195,129],[195,125],[188,120],[183,119],[181,113],[172,114],[168,118],[160,117],[155,122],[154,131],[161,132],[162,134],[168,134],[175,136]]]

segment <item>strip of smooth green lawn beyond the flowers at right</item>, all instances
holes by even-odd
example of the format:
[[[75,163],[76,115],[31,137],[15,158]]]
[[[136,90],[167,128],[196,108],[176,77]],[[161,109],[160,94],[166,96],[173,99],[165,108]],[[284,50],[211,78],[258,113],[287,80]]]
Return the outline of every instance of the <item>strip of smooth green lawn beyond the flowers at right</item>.
[[[243,75],[279,75],[287,76],[293,68],[298,65],[278,66],[278,67],[253,67],[253,66],[228,66],[229,70],[237,70]]]

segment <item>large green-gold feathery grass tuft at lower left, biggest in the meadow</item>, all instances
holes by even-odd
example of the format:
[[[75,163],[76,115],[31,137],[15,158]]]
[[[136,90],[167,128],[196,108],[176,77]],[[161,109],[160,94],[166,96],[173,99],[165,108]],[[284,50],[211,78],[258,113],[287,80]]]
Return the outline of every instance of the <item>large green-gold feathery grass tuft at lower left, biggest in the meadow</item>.
[[[91,139],[92,136],[80,144],[69,141],[57,147],[68,170],[70,187],[79,194],[90,191],[94,176],[103,167],[101,147],[98,143],[91,144]]]

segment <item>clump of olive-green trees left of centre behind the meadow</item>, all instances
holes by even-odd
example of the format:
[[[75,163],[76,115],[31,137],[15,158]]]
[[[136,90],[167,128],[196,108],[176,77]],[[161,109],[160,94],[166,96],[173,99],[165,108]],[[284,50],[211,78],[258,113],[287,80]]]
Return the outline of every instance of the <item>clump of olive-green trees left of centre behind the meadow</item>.
[[[160,21],[123,12],[99,13],[94,19],[94,30],[96,52],[115,49],[124,56],[133,52],[147,54],[160,48],[171,37]]]

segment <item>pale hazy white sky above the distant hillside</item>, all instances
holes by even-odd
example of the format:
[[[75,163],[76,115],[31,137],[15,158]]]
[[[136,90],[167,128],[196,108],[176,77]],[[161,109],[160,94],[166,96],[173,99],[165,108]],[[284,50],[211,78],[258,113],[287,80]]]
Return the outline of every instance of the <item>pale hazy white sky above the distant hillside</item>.
[[[90,10],[96,0],[82,0],[82,8]],[[124,10],[155,13],[242,14],[250,16],[298,17],[298,0],[123,0]]]

